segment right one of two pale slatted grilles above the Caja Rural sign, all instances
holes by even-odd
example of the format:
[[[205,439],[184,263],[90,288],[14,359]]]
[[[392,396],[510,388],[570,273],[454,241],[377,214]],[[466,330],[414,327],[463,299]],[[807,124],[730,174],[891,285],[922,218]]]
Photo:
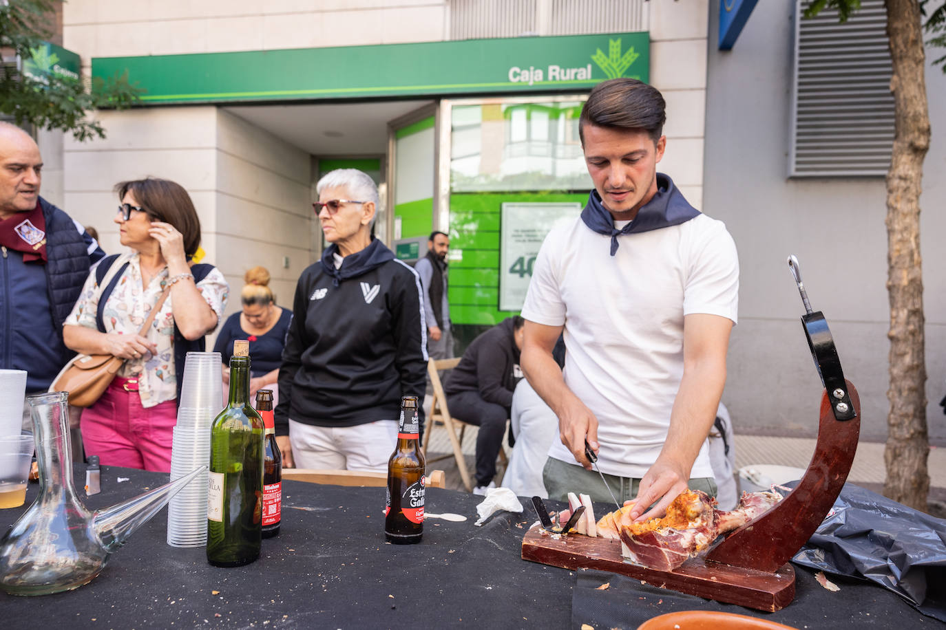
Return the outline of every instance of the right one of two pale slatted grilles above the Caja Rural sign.
[[[644,0],[552,0],[550,35],[647,30]]]

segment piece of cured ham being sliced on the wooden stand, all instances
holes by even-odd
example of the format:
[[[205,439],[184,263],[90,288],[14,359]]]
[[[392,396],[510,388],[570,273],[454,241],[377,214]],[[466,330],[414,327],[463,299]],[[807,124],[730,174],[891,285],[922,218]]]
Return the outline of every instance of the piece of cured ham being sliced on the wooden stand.
[[[705,492],[686,490],[671,502],[662,519],[634,522],[628,505],[605,515],[599,529],[602,536],[613,537],[609,522],[614,522],[626,557],[652,569],[674,570],[706,551],[717,536],[761,516],[780,500],[775,492],[744,492],[736,509],[721,512]]]

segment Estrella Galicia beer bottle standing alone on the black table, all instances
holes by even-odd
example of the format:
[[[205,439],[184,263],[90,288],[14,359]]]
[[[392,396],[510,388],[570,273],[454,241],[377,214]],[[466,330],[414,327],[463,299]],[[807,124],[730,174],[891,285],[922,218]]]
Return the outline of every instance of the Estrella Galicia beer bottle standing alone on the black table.
[[[401,399],[397,446],[388,460],[388,500],[384,510],[384,537],[409,545],[424,532],[424,455],[420,451],[417,397]]]

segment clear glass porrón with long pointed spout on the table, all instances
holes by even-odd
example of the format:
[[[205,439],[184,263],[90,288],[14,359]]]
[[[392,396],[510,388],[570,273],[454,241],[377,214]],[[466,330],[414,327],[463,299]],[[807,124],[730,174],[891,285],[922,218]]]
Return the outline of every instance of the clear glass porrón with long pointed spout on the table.
[[[92,512],[79,501],[73,484],[68,394],[26,400],[33,418],[40,494],[0,538],[0,588],[11,595],[46,595],[88,584],[134,530],[206,467]]]

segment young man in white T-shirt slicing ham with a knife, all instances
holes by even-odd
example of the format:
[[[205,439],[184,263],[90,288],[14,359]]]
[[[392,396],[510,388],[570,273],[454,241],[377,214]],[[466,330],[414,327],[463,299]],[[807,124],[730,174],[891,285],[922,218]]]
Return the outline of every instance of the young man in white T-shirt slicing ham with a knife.
[[[522,308],[521,366],[559,419],[549,497],[580,489],[611,502],[587,440],[618,500],[636,500],[638,521],[662,516],[688,486],[716,494],[706,442],[739,291],[724,224],[657,173],[664,109],[635,79],[591,91],[579,133],[595,190],[580,217],[549,233]],[[560,370],[552,348],[563,331]]]

